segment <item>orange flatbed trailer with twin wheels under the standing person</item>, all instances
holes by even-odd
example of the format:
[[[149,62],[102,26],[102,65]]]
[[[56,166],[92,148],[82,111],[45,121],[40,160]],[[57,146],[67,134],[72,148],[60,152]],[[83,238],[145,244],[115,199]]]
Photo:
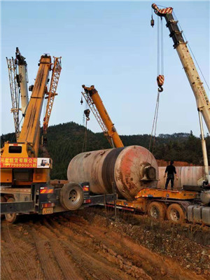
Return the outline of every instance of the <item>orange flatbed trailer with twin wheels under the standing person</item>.
[[[144,188],[131,202],[116,200],[116,207],[174,223],[189,221],[210,225],[210,207],[202,206],[199,197],[199,192],[190,190]],[[106,206],[114,207],[114,202]]]

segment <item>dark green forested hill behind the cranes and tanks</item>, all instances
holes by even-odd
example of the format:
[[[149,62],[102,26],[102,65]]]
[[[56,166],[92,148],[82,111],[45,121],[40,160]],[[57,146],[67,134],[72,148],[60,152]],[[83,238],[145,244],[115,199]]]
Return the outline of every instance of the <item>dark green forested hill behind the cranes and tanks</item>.
[[[94,151],[110,148],[103,133],[87,130],[87,148],[85,149],[85,127],[76,123],[63,123],[48,127],[48,152],[53,160],[52,179],[66,179],[66,170],[71,158],[82,151]],[[151,136],[148,134],[120,135],[125,146],[139,145],[148,148]],[[207,151],[210,150],[210,137],[207,136]],[[15,141],[15,134],[1,136],[4,141]],[[43,156],[40,150],[40,155]],[[160,134],[155,138],[153,154],[158,160],[174,160],[202,165],[200,138],[193,132]],[[210,160],[210,153],[209,153]]]

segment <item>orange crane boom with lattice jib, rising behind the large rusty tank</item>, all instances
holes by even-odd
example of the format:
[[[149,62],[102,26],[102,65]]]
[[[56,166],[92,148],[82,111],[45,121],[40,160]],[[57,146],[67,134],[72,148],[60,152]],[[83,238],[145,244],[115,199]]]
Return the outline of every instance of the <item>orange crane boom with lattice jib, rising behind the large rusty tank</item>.
[[[94,88],[94,85],[91,85],[91,87],[85,87],[85,85],[83,85],[83,89],[85,90],[85,92],[82,92],[83,97],[85,98],[88,106],[90,106],[90,109],[102,128],[105,136],[108,136],[111,146],[113,148],[124,147],[123,142],[121,141],[119,134],[104,107],[102,99],[99,97],[99,93]]]

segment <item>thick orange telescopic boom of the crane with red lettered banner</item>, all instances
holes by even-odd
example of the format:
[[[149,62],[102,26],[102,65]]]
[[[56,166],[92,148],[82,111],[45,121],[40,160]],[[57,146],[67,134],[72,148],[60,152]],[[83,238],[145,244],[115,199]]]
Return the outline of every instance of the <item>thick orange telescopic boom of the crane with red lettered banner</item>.
[[[34,151],[34,157],[38,155],[38,144],[40,135],[40,116],[45,95],[45,87],[48,83],[48,75],[51,67],[51,57],[42,55],[31,99],[27,108],[22,130],[18,143],[28,143]]]

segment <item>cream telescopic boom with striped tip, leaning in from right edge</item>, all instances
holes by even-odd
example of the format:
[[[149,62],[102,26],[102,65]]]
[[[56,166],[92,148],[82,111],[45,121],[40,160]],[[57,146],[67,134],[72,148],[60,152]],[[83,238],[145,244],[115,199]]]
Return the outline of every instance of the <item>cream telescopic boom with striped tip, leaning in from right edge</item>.
[[[174,41],[174,48],[176,48],[176,51],[178,52],[183,69],[186,71],[190,86],[192,87],[193,93],[195,95],[197,110],[202,113],[204,121],[210,132],[209,98],[193,62],[193,58],[191,57],[188,50],[187,42],[184,41],[182,31],[180,31],[179,26],[177,25],[178,21],[174,20],[174,16],[172,15],[173,8],[169,7],[160,9],[157,5],[155,5],[155,3],[152,4],[152,8],[154,9],[156,15],[165,18],[167,22],[166,26],[170,31],[169,36],[172,37]]]

